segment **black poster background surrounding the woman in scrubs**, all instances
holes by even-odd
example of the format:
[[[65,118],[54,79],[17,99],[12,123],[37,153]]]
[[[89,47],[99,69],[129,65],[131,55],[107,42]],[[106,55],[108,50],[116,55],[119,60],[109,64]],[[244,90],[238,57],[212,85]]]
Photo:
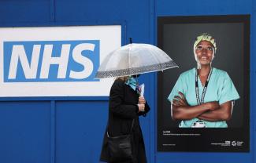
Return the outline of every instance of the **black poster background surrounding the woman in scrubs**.
[[[171,118],[166,98],[179,75],[196,67],[193,44],[196,36],[205,32],[212,34],[217,42],[213,67],[228,72],[240,99],[236,101],[228,129],[179,129],[179,121]],[[250,16],[158,17],[158,47],[180,66],[158,73],[158,150],[249,151]],[[243,145],[211,144],[226,141],[243,142]]]

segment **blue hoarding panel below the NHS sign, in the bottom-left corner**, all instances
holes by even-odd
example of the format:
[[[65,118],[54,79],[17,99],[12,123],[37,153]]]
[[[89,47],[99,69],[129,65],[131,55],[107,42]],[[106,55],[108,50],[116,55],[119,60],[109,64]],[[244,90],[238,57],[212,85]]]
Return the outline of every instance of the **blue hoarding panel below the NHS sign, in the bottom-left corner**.
[[[50,103],[0,103],[0,162],[50,162]]]

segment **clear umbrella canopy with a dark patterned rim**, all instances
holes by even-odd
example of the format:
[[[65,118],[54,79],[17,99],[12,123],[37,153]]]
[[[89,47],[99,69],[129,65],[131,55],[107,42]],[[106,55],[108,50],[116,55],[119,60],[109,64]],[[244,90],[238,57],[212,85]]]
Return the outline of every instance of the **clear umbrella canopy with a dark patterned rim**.
[[[128,44],[103,60],[95,78],[129,76],[178,67],[161,49],[150,44]]]

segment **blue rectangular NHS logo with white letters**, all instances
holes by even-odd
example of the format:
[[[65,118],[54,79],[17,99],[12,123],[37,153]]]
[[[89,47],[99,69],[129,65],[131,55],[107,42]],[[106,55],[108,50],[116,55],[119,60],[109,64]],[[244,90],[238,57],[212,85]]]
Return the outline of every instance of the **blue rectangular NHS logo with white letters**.
[[[4,82],[98,82],[99,40],[3,42]]]

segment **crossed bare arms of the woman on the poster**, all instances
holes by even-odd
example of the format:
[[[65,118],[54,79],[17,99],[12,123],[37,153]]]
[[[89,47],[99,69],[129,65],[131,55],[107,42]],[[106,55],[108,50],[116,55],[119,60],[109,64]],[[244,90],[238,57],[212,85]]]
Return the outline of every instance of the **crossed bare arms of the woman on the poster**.
[[[226,121],[231,118],[232,102],[228,101],[219,105],[217,101],[202,103],[196,106],[190,106],[182,92],[180,96],[174,96],[173,120],[187,120],[199,118],[206,121]]]

